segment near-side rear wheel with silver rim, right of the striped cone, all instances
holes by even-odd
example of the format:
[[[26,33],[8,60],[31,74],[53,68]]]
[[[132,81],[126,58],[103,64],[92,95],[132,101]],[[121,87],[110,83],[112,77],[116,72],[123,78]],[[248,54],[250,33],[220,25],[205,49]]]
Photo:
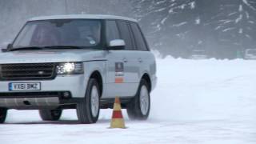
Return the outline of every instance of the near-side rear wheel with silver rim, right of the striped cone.
[[[146,80],[142,79],[138,92],[127,105],[127,114],[130,119],[146,120],[150,114],[150,90]]]

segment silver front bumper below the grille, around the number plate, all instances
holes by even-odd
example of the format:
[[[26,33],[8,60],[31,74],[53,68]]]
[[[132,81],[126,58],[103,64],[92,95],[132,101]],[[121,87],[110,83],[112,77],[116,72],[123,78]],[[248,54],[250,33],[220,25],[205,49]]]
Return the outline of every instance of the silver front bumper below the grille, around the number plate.
[[[83,74],[58,76],[54,80],[45,81],[14,81],[41,82],[41,90],[10,91],[8,82],[0,82],[0,107],[15,109],[40,109],[41,107],[58,107],[64,92],[70,99],[83,98],[86,94],[87,79]],[[53,94],[54,93],[54,94]],[[66,101],[66,104],[69,104]]]

